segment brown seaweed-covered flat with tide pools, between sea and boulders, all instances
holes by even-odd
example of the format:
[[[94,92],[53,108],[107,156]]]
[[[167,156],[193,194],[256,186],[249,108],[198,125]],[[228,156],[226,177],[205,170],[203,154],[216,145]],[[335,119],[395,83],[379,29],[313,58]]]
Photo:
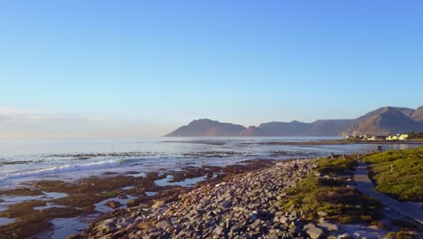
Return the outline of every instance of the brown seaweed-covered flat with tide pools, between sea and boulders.
[[[141,174],[103,174],[85,177],[76,182],[42,180],[25,182],[14,189],[0,190],[0,238],[49,237],[55,228],[69,224],[77,217],[93,221],[111,213],[118,215],[132,206],[150,207],[157,200],[174,200],[178,195],[193,190],[195,185],[221,181],[241,172],[268,167],[275,160],[248,160],[227,167],[184,167],[181,171]],[[141,177],[137,175],[141,174]],[[193,187],[194,186],[194,187]],[[13,200],[21,200],[14,203]],[[12,200],[12,201],[9,201]],[[0,208],[1,209],[1,208]],[[61,219],[61,224],[52,223]],[[80,225],[83,226],[83,225]],[[73,233],[85,229],[79,228]],[[61,228],[59,228],[60,231]],[[78,229],[78,228],[77,228]],[[59,234],[58,238],[69,234]]]

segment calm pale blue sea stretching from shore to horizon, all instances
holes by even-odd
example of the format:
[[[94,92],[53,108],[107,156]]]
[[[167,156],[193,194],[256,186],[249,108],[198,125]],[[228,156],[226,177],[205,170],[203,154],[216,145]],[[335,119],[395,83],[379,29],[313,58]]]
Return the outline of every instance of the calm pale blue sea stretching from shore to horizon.
[[[0,139],[0,188],[38,179],[75,180],[105,172],[142,174],[200,167],[202,162],[226,166],[254,158],[315,158],[332,152],[363,153],[375,148],[363,144],[261,144],[322,139],[340,138]]]

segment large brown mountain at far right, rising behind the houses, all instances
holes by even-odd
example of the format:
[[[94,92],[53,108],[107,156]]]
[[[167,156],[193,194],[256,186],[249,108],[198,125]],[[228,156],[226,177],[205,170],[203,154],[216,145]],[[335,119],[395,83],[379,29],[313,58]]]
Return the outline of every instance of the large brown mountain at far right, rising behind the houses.
[[[342,135],[389,135],[408,131],[423,131],[423,122],[410,116],[415,110],[395,107],[383,107],[373,110],[360,118],[354,119]],[[417,115],[417,118],[419,115]]]

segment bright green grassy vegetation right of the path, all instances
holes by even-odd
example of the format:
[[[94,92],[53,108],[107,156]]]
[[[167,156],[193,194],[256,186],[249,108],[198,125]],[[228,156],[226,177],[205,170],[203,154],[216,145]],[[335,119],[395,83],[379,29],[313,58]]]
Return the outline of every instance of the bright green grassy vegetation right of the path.
[[[376,189],[398,200],[423,200],[423,147],[390,150],[362,158],[371,163]]]

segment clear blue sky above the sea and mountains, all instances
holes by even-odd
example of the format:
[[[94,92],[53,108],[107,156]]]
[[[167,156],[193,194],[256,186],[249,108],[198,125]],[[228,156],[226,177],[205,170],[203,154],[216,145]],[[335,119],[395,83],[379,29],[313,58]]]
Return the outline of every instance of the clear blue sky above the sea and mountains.
[[[422,1],[0,0],[0,137],[423,105]]]

